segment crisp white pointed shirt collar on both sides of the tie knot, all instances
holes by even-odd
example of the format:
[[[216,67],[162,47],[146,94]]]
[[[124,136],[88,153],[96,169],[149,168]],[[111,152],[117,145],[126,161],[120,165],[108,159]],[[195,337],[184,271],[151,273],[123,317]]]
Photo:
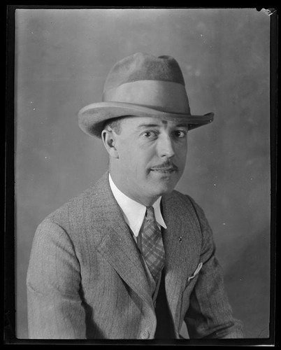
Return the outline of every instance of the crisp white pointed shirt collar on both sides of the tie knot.
[[[127,197],[127,195],[124,195],[124,193],[122,193],[119,190],[119,188],[117,188],[110,174],[109,174],[109,183],[110,183],[110,188],[115,197],[115,200],[117,201],[120,208],[122,209],[125,221],[133,231],[134,235],[138,237],[138,232],[141,229],[143,218],[145,217],[146,207],[141,203],[131,200],[131,198]],[[163,216],[161,214],[160,202],[161,202],[161,197],[159,197],[158,200],[154,202],[152,207],[154,208],[154,214],[155,214],[157,223],[161,225],[163,228],[167,228],[164,222]]]

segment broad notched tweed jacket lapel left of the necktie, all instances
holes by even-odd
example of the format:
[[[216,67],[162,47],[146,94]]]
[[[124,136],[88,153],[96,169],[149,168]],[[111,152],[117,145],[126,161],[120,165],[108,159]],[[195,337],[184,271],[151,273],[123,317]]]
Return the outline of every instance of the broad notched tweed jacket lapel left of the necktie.
[[[98,251],[131,289],[152,307],[152,298],[141,257],[110,189],[108,172],[96,184],[95,202],[96,209],[100,211],[99,227],[102,230],[97,246]]]

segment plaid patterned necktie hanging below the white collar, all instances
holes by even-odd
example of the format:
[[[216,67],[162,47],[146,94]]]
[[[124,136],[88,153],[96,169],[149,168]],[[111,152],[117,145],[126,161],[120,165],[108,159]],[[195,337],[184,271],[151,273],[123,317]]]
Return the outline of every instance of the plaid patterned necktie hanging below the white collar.
[[[143,257],[154,280],[157,281],[159,273],[164,266],[165,253],[161,237],[161,230],[157,225],[153,207],[147,207],[146,218],[142,232]]]

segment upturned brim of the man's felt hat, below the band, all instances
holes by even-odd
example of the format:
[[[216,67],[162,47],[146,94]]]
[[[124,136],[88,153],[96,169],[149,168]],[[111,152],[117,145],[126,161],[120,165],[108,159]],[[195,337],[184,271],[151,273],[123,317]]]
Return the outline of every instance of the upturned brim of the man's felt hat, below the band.
[[[160,109],[152,109],[138,104],[122,102],[99,102],[89,104],[78,112],[78,124],[83,132],[91,136],[101,137],[106,120],[124,116],[167,118],[187,122],[189,130],[209,124],[214,119],[214,113],[194,116],[185,113],[169,113]]]

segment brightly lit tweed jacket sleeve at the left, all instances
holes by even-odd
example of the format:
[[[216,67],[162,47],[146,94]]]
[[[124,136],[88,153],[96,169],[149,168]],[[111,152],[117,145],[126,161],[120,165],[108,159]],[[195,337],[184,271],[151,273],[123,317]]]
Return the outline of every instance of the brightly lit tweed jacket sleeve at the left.
[[[29,338],[83,339],[80,265],[71,239],[45,219],[38,226],[27,272]]]

